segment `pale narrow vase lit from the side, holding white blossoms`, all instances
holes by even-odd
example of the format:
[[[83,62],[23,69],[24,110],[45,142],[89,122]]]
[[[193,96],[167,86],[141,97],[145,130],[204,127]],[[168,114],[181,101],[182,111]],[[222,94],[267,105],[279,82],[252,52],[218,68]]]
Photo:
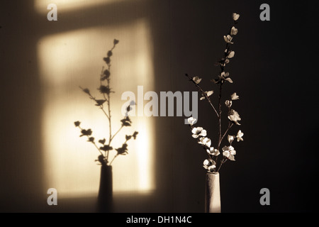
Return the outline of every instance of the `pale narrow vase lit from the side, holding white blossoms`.
[[[206,174],[205,191],[205,212],[220,213],[220,187],[218,172],[208,172]]]

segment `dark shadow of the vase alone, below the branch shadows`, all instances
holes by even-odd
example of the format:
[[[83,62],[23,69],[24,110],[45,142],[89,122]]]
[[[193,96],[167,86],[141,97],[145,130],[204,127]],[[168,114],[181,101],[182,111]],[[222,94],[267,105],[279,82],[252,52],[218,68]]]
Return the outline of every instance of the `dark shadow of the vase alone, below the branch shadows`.
[[[112,167],[109,165],[101,166],[97,211],[99,213],[113,212],[113,175]]]

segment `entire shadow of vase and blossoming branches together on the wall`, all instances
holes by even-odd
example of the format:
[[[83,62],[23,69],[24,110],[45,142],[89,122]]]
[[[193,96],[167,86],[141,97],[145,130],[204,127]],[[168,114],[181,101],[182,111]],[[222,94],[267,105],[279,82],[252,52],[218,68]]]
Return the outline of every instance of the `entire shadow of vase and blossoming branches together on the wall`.
[[[89,96],[89,99],[94,101],[94,105],[98,106],[103,114],[108,119],[108,137],[97,140],[92,136],[93,131],[91,128],[82,128],[80,121],[75,121],[74,126],[79,128],[81,135],[80,137],[85,136],[89,143],[92,143],[96,150],[99,151],[98,159],[95,160],[101,165],[101,180],[99,186],[99,196],[98,196],[98,211],[99,212],[112,212],[113,211],[113,176],[112,176],[112,163],[119,155],[128,155],[128,141],[133,138],[135,140],[138,135],[138,131],[134,131],[130,135],[125,135],[123,139],[123,144],[113,149],[112,142],[113,139],[118,135],[118,133],[125,127],[130,127],[132,125],[132,120],[128,116],[128,112],[131,110],[132,105],[135,103],[130,103],[126,108],[125,116],[121,119],[121,126],[119,126],[116,133],[112,133],[112,121],[111,121],[111,93],[114,93],[111,88],[111,57],[113,55],[113,50],[116,48],[116,45],[119,43],[119,40],[113,40],[113,48],[108,50],[106,57],[103,57],[103,61],[106,63],[106,68],[102,67],[100,74],[100,84],[97,88],[101,94],[101,97],[97,99],[93,96],[89,89],[82,88],[82,91]],[[110,153],[115,150],[116,153],[111,159]],[[110,161],[111,159],[111,161]]]

